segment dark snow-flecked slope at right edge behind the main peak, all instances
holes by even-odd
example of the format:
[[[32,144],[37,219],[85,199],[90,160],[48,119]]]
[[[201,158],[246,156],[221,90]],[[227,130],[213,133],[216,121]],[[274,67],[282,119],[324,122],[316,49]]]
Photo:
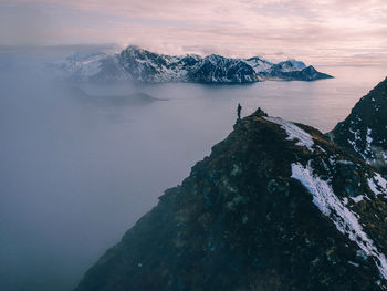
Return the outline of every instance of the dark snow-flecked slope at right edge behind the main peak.
[[[387,77],[362,97],[328,135],[387,175]]]

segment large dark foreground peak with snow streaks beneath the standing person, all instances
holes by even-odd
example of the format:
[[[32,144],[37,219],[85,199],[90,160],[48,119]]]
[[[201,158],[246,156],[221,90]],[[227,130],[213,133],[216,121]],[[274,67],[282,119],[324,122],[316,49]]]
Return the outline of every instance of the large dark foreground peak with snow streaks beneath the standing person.
[[[318,131],[258,110],[76,290],[386,290],[386,197]]]

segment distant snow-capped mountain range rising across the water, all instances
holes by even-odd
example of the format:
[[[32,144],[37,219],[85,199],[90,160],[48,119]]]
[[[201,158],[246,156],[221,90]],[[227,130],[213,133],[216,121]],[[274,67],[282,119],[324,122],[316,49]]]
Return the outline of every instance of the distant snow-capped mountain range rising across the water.
[[[250,59],[229,59],[215,54],[206,58],[172,56],[134,45],[114,55],[93,53],[70,56],[60,67],[69,77],[79,81],[253,83],[265,79],[313,81],[331,77],[295,60],[273,64],[258,56]]]

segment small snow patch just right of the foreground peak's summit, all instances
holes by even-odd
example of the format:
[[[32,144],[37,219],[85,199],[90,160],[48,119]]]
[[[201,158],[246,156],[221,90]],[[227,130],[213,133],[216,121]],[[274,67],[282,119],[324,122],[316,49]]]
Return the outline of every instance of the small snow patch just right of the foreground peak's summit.
[[[305,146],[308,150],[313,153],[313,138],[312,136],[306,133],[305,131],[301,129],[299,126],[291,122],[286,122],[284,119],[281,119],[279,117],[263,117],[269,122],[275,123],[281,126],[282,129],[286,132],[289,137],[286,139],[293,141],[297,139],[299,142],[295,144],[297,146]]]

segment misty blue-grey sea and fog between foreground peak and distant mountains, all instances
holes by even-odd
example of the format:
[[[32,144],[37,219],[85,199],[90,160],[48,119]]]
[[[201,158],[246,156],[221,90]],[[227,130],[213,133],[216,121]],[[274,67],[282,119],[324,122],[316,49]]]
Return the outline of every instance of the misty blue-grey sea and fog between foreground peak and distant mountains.
[[[231,132],[238,103],[242,115],[261,106],[327,132],[387,72],[320,66],[335,79],[79,86],[55,80],[38,62],[42,59],[0,54],[4,291],[74,288],[166,188],[178,185]],[[128,101],[136,92],[159,100]]]

